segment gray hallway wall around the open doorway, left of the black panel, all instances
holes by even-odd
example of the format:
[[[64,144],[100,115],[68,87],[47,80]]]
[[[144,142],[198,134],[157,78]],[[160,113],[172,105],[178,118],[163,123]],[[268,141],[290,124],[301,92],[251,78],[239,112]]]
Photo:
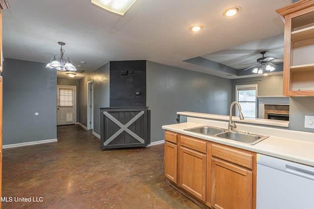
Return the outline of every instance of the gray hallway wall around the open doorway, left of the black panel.
[[[79,80],[79,122],[87,126],[87,82],[94,81],[94,129],[100,135],[100,109],[109,107],[109,63]]]

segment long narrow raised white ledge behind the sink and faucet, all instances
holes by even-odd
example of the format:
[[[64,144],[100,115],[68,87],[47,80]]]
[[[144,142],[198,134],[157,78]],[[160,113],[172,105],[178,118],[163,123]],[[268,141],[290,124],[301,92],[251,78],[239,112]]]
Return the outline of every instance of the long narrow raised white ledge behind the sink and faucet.
[[[214,115],[207,113],[194,113],[194,112],[177,112],[178,115],[182,116],[192,116],[192,117],[202,117],[209,119],[217,119],[217,120],[229,120],[229,116],[224,115]],[[244,120],[240,120],[239,117],[233,116],[232,119],[241,123],[252,123],[252,124],[260,124],[260,125],[270,125],[270,126],[278,126],[278,127],[289,127],[289,121],[284,120],[270,120],[270,119],[262,119],[262,118],[244,118]]]

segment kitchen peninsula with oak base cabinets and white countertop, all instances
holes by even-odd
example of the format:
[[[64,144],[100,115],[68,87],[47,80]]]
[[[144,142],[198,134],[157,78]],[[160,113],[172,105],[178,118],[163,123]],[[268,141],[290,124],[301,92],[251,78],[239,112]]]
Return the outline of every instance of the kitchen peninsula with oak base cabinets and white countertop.
[[[229,116],[178,112],[186,122],[165,129],[165,177],[204,208],[256,208],[260,154],[314,166],[314,133],[288,130],[287,121],[237,122],[235,130],[267,135],[250,145],[188,131],[200,126],[228,129]],[[269,177],[271,178],[271,177]],[[236,205],[235,205],[236,204]]]

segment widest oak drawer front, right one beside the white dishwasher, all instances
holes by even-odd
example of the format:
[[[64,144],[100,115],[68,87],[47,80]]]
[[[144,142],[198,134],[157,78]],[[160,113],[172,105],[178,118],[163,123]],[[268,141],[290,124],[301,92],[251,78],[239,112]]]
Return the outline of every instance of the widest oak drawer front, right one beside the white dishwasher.
[[[211,155],[213,157],[253,169],[253,154],[250,151],[212,144]]]

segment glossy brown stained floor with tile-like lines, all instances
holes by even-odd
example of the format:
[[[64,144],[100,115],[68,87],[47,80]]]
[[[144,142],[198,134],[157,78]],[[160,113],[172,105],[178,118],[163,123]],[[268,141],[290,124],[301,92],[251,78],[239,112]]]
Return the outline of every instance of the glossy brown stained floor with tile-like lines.
[[[163,144],[101,150],[79,125],[58,142],[3,150],[2,209],[199,209],[163,177]],[[30,198],[31,202],[16,202]]]

